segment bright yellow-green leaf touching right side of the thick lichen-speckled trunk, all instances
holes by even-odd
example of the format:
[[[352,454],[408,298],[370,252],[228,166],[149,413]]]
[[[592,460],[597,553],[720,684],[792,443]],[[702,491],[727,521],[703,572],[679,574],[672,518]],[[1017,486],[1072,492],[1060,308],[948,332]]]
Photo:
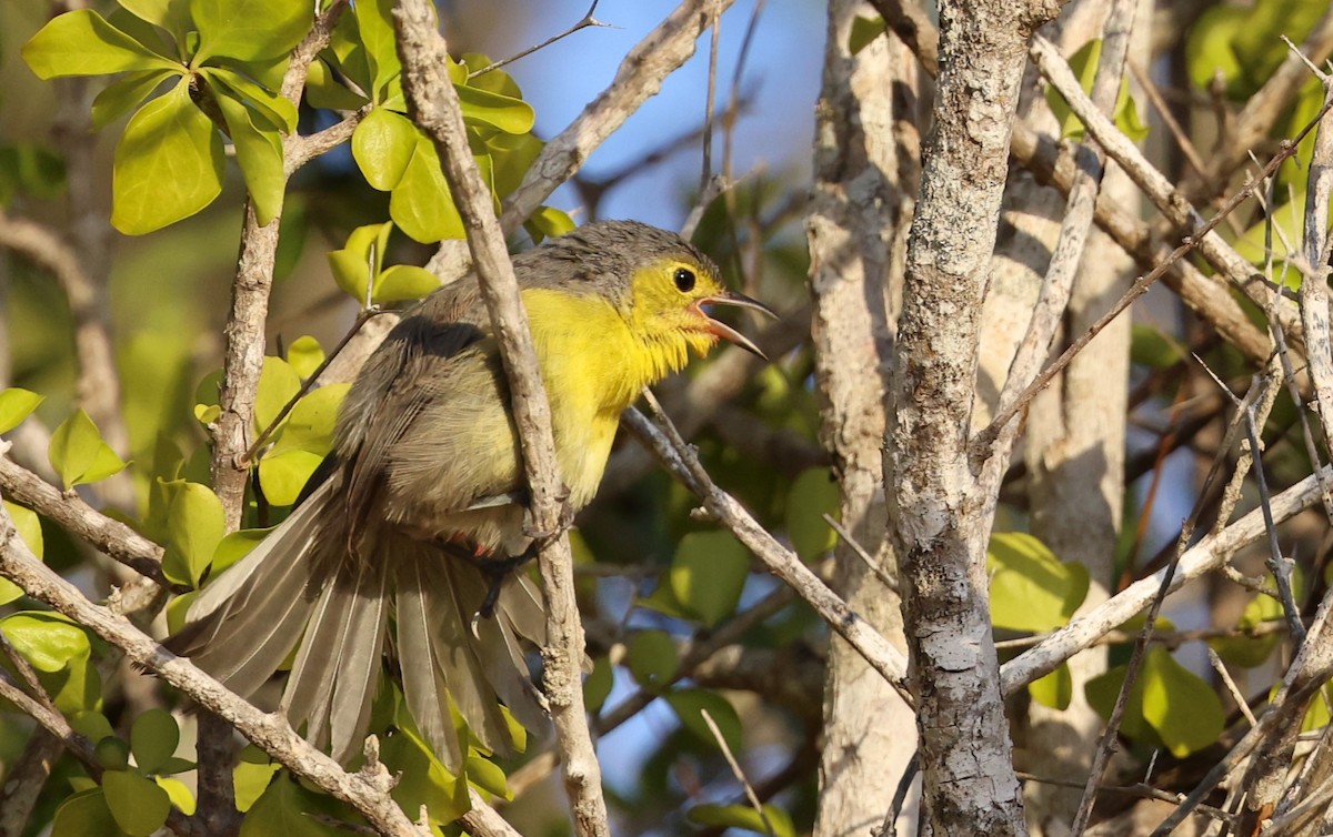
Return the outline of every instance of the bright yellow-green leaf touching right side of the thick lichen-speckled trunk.
[[[1061,562],[1030,534],[990,536],[990,617],[996,628],[1044,632],[1069,621],[1088,596],[1088,569]]]

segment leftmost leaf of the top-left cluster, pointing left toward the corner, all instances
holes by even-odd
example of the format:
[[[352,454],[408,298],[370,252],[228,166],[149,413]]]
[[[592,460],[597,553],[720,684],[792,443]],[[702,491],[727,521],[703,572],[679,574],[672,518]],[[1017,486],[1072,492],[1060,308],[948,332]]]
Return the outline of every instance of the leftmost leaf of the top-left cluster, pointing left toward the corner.
[[[39,79],[101,76],[131,69],[175,69],[164,59],[91,9],[53,17],[23,45],[23,60]]]

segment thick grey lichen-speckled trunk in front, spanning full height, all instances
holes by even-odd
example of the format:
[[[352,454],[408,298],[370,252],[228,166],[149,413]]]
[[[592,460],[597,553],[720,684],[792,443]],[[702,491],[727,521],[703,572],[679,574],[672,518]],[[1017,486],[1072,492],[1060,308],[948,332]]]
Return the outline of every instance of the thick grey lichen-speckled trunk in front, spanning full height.
[[[981,301],[1032,31],[1058,4],[941,3],[934,129],[908,244],[886,449],[913,658],[922,804],[936,834],[1024,834],[990,637],[994,496],[968,457]]]

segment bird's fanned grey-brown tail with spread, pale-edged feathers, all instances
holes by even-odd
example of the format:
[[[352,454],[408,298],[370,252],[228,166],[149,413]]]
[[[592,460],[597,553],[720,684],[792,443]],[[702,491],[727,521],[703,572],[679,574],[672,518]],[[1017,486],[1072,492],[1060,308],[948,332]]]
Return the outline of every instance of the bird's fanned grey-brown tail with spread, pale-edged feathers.
[[[339,761],[365,738],[391,622],[408,710],[451,770],[465,756],[451,706],[500,753],[511,736],[499,700],[525,728],[543,729],[523,645],[545,638],[540,592],[515,576],[495,614],[476,618],[491,582],[435,544],[384,526],[351,557],[333,482],[212,581],[168,648],[248,697],[300,642],[280,708]]]

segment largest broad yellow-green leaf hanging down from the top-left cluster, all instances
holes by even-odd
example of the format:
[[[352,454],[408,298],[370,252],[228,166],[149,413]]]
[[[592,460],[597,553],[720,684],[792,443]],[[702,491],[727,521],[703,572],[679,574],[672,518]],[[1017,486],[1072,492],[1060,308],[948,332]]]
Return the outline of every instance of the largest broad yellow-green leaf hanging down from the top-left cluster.
[[[116,145],[112,225],[143,235],[189,217],[223,191],[223,139],[179,83],[144,105]]]

